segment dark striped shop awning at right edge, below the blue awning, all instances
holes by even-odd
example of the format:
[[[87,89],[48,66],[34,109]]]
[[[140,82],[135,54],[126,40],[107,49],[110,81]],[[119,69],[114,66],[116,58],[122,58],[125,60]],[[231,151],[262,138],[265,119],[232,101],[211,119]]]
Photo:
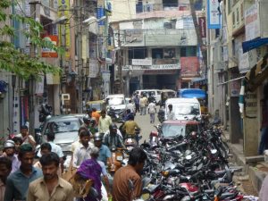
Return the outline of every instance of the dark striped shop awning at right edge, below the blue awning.
[[[247,72],[245,80],[247,80],[247,89],[255,91],[255,89],[268,78],[268,53],[256,63],[256,65]]]

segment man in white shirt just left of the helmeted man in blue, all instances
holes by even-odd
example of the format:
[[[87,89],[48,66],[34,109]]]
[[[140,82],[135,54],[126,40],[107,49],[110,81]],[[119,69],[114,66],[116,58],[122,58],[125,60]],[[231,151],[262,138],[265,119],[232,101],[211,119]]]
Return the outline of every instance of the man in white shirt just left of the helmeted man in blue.
[[[87,130],[80,132],[80,146],[77,147],[73,152],[72,166],[80,167],[80,164],[85,160],[90,159],[90,150],[94,145],[89,142],[90,134]]]

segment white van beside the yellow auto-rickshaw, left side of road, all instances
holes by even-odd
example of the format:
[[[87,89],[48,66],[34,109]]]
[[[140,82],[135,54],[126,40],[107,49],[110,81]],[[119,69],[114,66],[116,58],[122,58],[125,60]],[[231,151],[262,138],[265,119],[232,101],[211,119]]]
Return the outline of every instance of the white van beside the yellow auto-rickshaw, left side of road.
[[[114,110],[125,111],[127,103],[123,94],[113,94],[105,97],[107,107],[112,107]]]

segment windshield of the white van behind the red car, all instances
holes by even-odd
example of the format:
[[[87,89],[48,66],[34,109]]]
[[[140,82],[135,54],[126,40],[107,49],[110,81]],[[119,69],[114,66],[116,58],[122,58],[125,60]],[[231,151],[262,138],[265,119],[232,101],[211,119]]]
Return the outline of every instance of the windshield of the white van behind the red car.
[[[173,104],[175,116],[178,115],[197,115],[200,113],[198,104]]]

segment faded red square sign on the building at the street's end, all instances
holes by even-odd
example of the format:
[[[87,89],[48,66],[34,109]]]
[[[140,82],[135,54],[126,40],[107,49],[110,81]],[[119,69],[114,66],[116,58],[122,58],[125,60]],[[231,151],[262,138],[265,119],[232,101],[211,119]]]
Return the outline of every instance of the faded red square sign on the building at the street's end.
[[[199,76],[199,62],[197,56],[180,57],[180,77]]]

